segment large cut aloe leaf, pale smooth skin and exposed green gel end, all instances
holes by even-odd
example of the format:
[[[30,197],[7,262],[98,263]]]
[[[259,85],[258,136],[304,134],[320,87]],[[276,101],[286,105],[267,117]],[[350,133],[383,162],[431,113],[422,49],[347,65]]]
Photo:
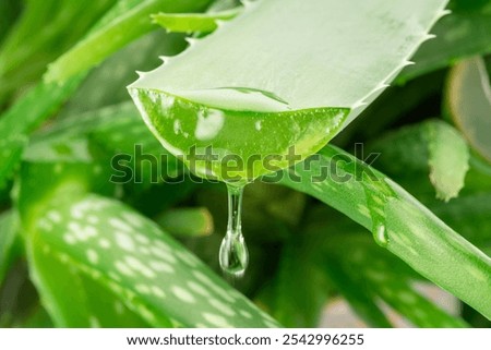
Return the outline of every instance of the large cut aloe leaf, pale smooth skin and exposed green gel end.
[[[173,154],[213,144],[221,158],[235,154],[250,159],[285,155],[295,145],[304,158],[408,64],[445,4],[246,2],[236,19],[202,40],[190,40],[188,50],[142,74],[129,90],[149,129]],[[217,173],[219,166],[196,168],[197,174],[227,180]],[[259,168],[238,176],[267,172]]]

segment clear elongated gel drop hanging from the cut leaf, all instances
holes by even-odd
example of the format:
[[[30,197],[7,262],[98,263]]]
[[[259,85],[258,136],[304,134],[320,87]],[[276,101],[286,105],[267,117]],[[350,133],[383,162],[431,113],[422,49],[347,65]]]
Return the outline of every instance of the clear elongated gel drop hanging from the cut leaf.
[[[249,264],[248,248],[242,236],[240,222],[243,186],[227,184],[228,225],[220,245],[219,262],[224,273],[242,277]]]

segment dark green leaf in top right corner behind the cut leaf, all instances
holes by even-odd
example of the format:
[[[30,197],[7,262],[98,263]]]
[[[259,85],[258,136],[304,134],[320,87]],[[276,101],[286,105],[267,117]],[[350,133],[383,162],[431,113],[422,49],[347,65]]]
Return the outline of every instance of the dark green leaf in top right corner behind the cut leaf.
[[[451,1],[452,13],[431,31],[436,38],[424,43],[396,79],[405,83],[455,61],[491,52],[491,5],[488,1]]]

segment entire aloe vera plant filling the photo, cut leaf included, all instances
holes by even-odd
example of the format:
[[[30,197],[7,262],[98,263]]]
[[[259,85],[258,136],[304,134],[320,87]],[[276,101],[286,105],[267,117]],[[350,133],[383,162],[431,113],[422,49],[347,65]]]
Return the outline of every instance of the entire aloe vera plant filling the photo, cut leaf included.
[[[488,2],[105,1],[62,55],[34,7],[1,22],[0,60],[46,56],[0,69],[0,326],[490,325]]]

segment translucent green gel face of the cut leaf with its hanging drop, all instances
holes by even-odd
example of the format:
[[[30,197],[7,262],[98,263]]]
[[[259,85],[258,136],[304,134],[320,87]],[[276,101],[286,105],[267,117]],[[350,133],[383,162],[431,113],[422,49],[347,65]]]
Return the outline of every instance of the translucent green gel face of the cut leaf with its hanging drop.
[[[291,110],[251,88],[180,92],[129,87],[145,123],[199,177],[227,183],[229,217],[220,246],[224,271],[241,276],[249,257],[241,232],[243,186],[303,160],[337,133],[347,109]]]

